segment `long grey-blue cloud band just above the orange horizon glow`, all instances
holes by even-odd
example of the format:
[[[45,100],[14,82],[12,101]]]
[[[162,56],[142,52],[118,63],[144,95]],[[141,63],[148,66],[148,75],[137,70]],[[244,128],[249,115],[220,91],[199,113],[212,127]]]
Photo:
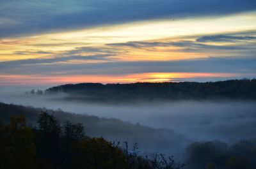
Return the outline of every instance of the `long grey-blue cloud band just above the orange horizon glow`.
[[[91,56],[95,57],[95,56]],[[108,55],[98,55],[104,59]],[[70,64],[67,59],[93,59],[86,56],[74,56],[57,59],[28,59],[0,62],[1,73],[19,75],[129,75],[152,72],[212,72],[212,73],[256,73],[256,57],[209,57],[183,61],[136,61],[136,62],[94,62],[77,61]],[[61,62],[62,61],[62,62]],[[45,64],[52,63],[52,64]],[[67,71],[68,70],[68,71]]]

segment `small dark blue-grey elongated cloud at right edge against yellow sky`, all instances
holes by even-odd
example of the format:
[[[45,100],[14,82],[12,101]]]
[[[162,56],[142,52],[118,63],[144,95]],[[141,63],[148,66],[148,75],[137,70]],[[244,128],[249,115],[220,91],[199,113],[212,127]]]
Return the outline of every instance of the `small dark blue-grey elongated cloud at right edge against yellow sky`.
[[[196,41],[199,42],[221,42],[221,41],[243,41],[243,40],[256,40],[255,36],[230,36],[230,35],[215,35],[215,36],[202,36]]]

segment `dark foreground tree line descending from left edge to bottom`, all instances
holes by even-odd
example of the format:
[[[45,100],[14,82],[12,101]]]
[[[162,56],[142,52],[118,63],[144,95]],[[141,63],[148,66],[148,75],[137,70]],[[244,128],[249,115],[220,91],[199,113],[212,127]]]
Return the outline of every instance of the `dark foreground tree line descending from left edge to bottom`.
[[[13,116],[10,124],[0,123],[0,168],[5,169],[180,169],[173,157],[163,154],[140,156],[119,142],[85,135],[80,123],[66,121],[61,126],[54,115],[42,112],[37,126],[29,128],[22,115]]]

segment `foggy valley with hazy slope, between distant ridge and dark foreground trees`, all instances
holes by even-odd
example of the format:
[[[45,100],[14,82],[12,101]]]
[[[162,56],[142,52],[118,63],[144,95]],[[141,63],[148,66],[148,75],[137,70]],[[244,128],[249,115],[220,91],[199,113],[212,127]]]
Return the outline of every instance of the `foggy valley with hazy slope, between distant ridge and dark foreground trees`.
[[[206,143],[215,147],[214,151],[223,146],[221,143],[227,143],[231,146],[225,148],[229,153],[232,145],[240,140],[256,137],[256,102],[252,99],[163,99],[114,104],[67,99],[67,94],[63,93],[24,94],[31,89],[2,87],[0,102],[28,108],[17,108],[19,111],[15,112],[13,105],[3,104],[1,113],[8,114],[9,111],[9,116],[24,114],[30,125],[36,126],[40,112],[51,114],[55,111],[54,115],[60,121],[81,122],[88,136],[127,141],[130,146],[138,143],[141,154],[160,152],[188,163],[193,146],[203,146],[191,144],[193,142]]]

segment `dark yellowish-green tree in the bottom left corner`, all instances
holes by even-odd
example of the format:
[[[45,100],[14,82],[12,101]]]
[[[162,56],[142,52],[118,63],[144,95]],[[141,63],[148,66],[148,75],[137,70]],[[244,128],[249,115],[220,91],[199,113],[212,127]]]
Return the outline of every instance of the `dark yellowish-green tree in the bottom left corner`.
[[[35,168],[36,146],[24,117],[12,117],[10,124],[1,126],[0,147],[0,168]]]

